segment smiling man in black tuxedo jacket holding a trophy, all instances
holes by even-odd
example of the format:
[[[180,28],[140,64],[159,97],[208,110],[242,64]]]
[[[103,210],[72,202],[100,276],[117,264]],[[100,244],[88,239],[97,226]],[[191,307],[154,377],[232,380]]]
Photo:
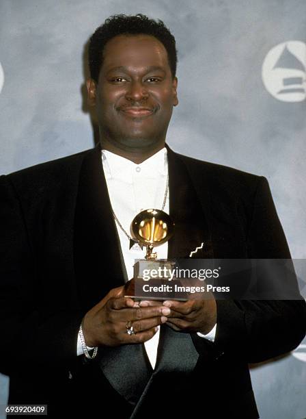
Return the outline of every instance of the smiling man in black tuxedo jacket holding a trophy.
[[[9,403],[53,417],[258,418],[247,363],[301,342],[305,301],[137,303],[124,282],[143,257],[129,225],[148,207],[176,223],[159,258],[289,258],[268,183],[165,148],[178,81],[161,21],[108,19],[89,68],[99,147],[1,177]]]

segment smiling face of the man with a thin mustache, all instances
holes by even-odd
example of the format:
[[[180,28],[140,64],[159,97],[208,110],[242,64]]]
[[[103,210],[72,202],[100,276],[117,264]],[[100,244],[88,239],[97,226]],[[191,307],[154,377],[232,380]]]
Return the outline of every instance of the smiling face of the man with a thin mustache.
[[[87,81],[100,134],[122,150],[163,143],[178,104],[167,51],[153,36],[116,36],[105,46],[98,85]]]

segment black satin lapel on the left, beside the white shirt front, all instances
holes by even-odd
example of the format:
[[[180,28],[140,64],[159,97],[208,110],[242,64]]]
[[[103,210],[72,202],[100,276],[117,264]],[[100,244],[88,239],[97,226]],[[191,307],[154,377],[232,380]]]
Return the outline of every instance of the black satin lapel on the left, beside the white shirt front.
[[[120,252],[100,147],[96,147],[83,160],[74,219],[74,268],[86,310],[111,288],[124,284]]]

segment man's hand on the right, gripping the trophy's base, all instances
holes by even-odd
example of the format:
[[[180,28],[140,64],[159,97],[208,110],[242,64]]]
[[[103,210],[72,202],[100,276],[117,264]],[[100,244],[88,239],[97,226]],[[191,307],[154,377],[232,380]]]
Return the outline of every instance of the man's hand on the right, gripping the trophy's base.
[[[171,312],[167,315],[167,325],[173,330],[186,333],[208,333],[217,322],[217,304],[212,299],[188,301],[164,301]]]

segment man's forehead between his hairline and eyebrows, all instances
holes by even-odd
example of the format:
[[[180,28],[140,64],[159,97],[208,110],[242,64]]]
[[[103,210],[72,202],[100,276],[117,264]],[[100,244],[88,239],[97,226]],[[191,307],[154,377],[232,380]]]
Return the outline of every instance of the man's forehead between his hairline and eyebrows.
[[[150,35],[119,35],[109,40],[103,52],[102,70],[119,66],[161,66],[170,71],[165,47]]]

